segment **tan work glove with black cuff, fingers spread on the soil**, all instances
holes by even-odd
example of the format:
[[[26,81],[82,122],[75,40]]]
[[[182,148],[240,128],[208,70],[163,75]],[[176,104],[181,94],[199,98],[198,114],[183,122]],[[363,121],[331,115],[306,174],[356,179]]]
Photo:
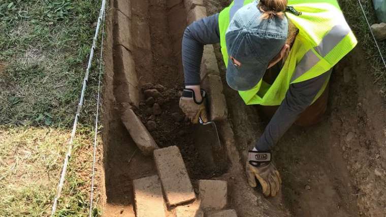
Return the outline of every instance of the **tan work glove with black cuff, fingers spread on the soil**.
[[[256,187],[256,179],[259,180],[263,188],[263,194],[276,196],[280,191],[281,178],[273,162],[271,162],[271,152],[249,151],[245,170],[249,185]]]

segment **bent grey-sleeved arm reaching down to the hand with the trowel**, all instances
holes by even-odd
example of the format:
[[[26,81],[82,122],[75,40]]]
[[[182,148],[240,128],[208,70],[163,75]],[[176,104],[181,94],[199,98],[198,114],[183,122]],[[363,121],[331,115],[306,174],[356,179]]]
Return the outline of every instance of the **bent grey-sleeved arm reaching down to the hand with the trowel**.
[[[195,91],[201,101],[200,65],[204,45],[220,42],[218,13],[197,20],[186,27],[182,38],[182,64],[185,88]]]

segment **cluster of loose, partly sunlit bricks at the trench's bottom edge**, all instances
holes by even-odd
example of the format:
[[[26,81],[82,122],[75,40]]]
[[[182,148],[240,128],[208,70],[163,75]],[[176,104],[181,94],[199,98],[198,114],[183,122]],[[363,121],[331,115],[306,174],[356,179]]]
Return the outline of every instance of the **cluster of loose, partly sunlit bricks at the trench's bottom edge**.
[[[199,180],[196,196],[176,146],[154,151],[158,175],[133,182],[137,217],[237,217],[227,206],[227,182]],[[165,198],[165,199],[164,199]]]

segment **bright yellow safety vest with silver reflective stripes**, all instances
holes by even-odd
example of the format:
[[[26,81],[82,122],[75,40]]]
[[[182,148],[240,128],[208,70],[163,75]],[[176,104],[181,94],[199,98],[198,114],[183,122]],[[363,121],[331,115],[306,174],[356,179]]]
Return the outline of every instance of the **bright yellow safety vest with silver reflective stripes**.
[[[221,53],[226,66],[228,66],[229,57],[225,34],[229,23],[237,10],[252,1],[256,0],[234,0],[219,14]],[[299,33],[272,85],[261,80],[252,89],[239,91],[248,105],[280,105],[290,84],[326,73],[358,43],[336,0],[288,0],[288,6],[302,13],[300,16],[291,12],[285,13],[287,18],[299,28]],[[323,93],[327,83],[328,80],[313,102]]]

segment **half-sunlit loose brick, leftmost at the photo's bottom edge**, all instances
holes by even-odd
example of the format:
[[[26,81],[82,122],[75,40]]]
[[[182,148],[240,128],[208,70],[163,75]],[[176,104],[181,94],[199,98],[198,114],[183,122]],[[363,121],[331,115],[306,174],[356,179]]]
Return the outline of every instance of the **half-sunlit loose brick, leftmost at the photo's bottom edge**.
[[[137,217],[166,217],[158,175],[135,179],[133,188]]]

